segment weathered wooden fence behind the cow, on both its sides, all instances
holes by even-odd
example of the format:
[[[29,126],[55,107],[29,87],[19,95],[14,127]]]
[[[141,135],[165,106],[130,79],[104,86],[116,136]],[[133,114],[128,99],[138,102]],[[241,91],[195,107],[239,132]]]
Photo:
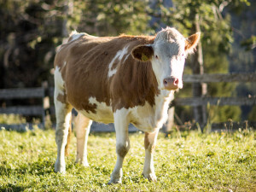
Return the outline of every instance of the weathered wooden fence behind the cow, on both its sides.
[[[203,74],[203,75],[184,75],[184,83],[212,83],[212,82],[256,82],[256,73],[230,73],[230,74]],[[38,99],[39,105],[33,106],[2,106],[0,113],[16,113],[24,116],[40,116],[44,126],[45,116],[47,114],[54,115],[55,108],[53,104],[54,88],[48,87],[47,83],[42,84],[39,88],[27,88],[27,89],[6,89],[0,90],[0,101],[9,100],[23,100],[23,99]],[[51,102],[50,102],[51,101]],[[174,112],[175,106],[203,106],[203,105],[256,105],[256,96],[247,97],[186,97],[175,98],[171,103],[170,111]],[[169,122],[173,121],[174,114],[169,115]],[[256,117],[255,117],[256,119]],[[171,124],[172,125],[172,124]],[[241,125],[241,124],[236,124]],[[247,125],[256,127],[256,123],[247,123]],[[0,125],[7,127],[7,129],[22,130],[31,128],[31,124],[26,125]],[[214,125],[213,125],[214,126]],[[223,126],[223,125],[221,125]],[[99,125],[93,124],[91,131],[114,131],[113,125]],[[133,126],[130,127],[130,131],[137,131]],[[166,131],[166,129],[164,129]],[[168,131],[168,130],[167,130]]]

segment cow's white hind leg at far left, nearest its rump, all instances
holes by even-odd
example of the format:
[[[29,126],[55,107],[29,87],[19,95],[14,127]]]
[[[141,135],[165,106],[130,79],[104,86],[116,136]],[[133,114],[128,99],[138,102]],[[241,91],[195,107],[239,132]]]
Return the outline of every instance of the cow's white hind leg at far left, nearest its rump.
[[[67,145],[67,135],[69,126],[71,126],[71,105],[65,102],[65,95],[61,95],[58,88],[55,87],[55,113],[56,113],[56,131],[55,142],[57,144],[57,159],[55,161],[55,172],[66,172],[65,147]]]

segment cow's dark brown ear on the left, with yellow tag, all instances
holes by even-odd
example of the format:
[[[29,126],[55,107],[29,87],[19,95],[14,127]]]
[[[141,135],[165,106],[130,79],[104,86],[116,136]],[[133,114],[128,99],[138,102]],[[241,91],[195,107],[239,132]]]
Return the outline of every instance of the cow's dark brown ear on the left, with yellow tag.
[[[131,55],[139,61],[149,61],[154,55],[154,50],[150,45],[139,45],[132,49]]]

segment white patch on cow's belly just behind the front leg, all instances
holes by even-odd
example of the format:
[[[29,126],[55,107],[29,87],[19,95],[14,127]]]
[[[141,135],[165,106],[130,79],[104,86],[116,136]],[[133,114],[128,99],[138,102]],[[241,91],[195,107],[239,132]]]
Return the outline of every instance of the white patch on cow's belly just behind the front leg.
[[[112,108],[106,104],[106,102],[98,102],[96,97],[89,98],[90,104],[96,104],[96,113],[86,112],[85,110],[79,111],[84,114],[84,116],[88,117],[97,122],[101,122],[104,124],[113,123],[113,112]]]

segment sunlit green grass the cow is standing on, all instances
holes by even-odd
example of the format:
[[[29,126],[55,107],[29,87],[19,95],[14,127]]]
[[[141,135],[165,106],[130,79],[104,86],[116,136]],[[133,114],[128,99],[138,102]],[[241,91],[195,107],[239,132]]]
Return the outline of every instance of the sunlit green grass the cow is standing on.
[[[255,132],[160,134],[154,154],[158,181],[142,176],[143,134],[131,134],[123,184],[108,185],[116,159],[113,133],[91,134],[89,164],[74,164],[75,137],[67,173],[54,172],[54,131],[0,131],[0,191],[256,191]]]

